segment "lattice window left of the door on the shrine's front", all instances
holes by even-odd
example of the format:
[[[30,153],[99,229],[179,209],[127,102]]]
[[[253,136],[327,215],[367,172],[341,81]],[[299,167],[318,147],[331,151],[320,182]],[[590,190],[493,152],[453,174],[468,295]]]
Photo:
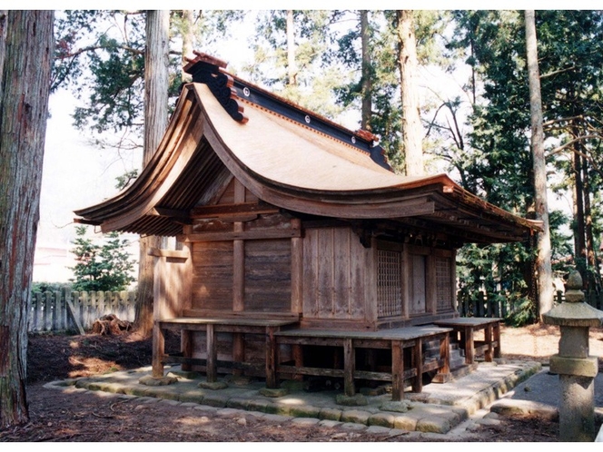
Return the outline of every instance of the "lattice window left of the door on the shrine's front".
[[[379,317],[402,313],[401,258],[399,251],[377,250],[377,303]]]

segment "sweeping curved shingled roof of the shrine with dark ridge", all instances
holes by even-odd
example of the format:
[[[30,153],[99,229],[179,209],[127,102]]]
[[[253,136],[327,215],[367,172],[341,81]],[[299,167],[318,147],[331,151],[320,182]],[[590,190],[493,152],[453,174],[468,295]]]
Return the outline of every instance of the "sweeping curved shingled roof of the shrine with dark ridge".
[[[347,131],[206,60],[192,62],[193,76],[200,65],[209,82],[184,86],[138,179],[75,211],[79,221],[103,231],[179,234],[193,208],[212,202],[216,181],[233,175],[262,201],[306,215],[400,221],[461,242],[522,241],[539,230],[539,222],[481,200],[446,174],[391,172],[370,133]],[[228,85],[216,89],[214,80],[224,76]]]

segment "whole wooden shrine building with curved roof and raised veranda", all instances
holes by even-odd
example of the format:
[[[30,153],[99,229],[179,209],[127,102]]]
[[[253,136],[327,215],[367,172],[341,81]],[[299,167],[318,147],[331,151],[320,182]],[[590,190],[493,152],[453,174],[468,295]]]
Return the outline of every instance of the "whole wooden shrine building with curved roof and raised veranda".
[[[155,257],[153,372],[163,362],[280,378],[445,379],[458,317],[456,250],[524,241],[539,223],[445,174],[403,177],[351,132],[196,54],[171,122],[138,179],[75,211],[101,230],[176,236]],[[163,330],[182,332],[182,357]],[[428,341],[440,355],[425,358]],[[386,371],[380,369],[386,368]]]

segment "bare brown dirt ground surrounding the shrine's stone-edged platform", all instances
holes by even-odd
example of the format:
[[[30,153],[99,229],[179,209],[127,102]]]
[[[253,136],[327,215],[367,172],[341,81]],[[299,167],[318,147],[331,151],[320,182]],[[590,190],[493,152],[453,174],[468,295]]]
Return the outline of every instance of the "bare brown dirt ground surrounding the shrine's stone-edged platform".
[[[603,329],[591,329],[590,354],[603,357]],[[167,347],[178,347],[168,338]],[[558,351],[559,329],[534,325],[502,328],[503,356],[548,361]],[[144,403],[99,393],[64,394],[44,388],[62,378],[140,368],[151,363],[151,340],[135,333],[120,336],[35,335],[29,339],[28,387],[30,422],[0,430],[0,442],[400,442],[407,435],[387,437],[340,427],[301,426],[257,418],[252,413],[216,416],[204,410]],[[553,442],[559,424],[535,417],[505,417],[498,426],[482,426],[466,442]],[[423,439],[421,439],[422,441]],[[429,439],[425,439],[426,441]]]

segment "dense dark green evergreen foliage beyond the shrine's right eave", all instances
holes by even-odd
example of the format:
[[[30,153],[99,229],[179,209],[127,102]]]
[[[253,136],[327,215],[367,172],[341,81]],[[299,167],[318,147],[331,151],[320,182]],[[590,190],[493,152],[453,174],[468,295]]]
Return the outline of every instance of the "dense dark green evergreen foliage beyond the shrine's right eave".
[[[537,14],[539,39],[539,66],[548,152],[549,174],[556,172],[561,181],[551,187],[561,192],[574,192],[590,201],[591,211],[578,213],[572,221],[574,237],[586,234],[579,231],[578,224],[592,219],[589,250],[596,254],[600,234],[595,211],[599,209],[601,123],[601,14],[593,11],[543,11]],[[529,152],[529,93],[525,61],[525,36],[523,21],[514,11],[457,11],[454,12],[456,34],[450,42],[450,50],[467,52],[466,61],[474,75],[470,89],[476,94],[476,103],[470,115],[470,152],[454,155],[453,165],[461,173],[464,187],[500,207],[526,216],[532,211],[533,188],[531,155]],[[576,155],[584,154],[582,171],[576,167]],[[576,190],[577,177],[588,178],[590,185],[585,190]],[[555,181],[555,179],[553,179]],[[553,269],[558,274],[568,270],[568,265],[588,267],[591,278],[590,290],[595,287],[598,276],[598,260],[587,265],[586,252],[580,256],[578,244],[571,247],[570,237],[562,232],[568,218],[560,212],[549,214],[553,246]],[[586,228],[582,228],[585,230]],[[585,237],[583,242],[588,242]],[[465,247],[460,253],[460,265],[469,266],[464,274],[479,272],[487,287],[489,297],[500,294],[497,288],[488,287],[491,274],[500,266],[501,256],[508,255],[509,273],[501,279],[511,287],[516,281],[531,284],[534,275],[530,270],[534,259],[530,243],[517,248],[514,253],[503,252],[509,245],[488,247],[476,252],[475,247]],[[585,248],[587,245],[584,245]],[[514,246],[515,247],[515,246]],[[473,268],[480,259],[490,262]],[[461,285],[470,284],[471,280]],[[588,280],[585,278],[585,280]],[[599,286],[600,287],[600,286]],[[504,288],[501,288],[504,290]],[[522,323],[534,320],[533,290],[504,290],[504,296],[516,309],[514,321]],[[518,298],[518,295],[521,295]],[[528,297],[528,298],[524,298]]]

